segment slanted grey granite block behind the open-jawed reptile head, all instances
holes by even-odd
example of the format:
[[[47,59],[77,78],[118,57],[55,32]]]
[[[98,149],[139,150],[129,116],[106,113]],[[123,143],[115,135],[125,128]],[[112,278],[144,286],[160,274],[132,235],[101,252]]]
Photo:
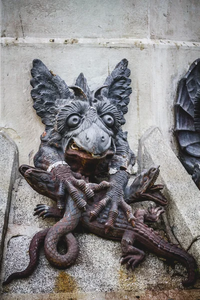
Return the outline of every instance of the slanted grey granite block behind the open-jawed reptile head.
[[[158,128],[149,130],[141,138],[139,148],[141,169],[160,165],[159,178],[168,198],[166,213],[169,225],[180,245],[187,249],[200,232],[199,190]],[[200,253],[200,248],[197,251]]]

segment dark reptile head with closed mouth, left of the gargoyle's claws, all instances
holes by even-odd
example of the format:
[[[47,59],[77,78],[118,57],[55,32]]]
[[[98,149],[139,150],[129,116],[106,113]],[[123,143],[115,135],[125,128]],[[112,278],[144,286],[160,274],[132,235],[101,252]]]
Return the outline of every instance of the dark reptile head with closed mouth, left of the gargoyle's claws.
[[[38,193],[56,199],[55,178],[50,172],[46,172],[32,166],[22,164],[19,172],[28,184]]]

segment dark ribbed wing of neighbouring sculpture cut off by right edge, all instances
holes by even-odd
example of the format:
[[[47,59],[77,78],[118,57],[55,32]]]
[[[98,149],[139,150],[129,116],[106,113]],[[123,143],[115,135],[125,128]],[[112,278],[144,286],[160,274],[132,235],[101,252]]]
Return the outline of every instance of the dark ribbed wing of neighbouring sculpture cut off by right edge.
[[[179,82],[175,103],[175,131],[182,150],[200,156],[200,58],[189,67]]]

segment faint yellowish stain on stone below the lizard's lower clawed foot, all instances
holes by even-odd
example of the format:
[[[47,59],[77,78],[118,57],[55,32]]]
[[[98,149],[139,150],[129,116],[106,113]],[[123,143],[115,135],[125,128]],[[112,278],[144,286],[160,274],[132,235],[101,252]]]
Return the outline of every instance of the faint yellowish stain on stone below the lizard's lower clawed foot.
[[[132,269],[127,270],[124,266],[120,266],[118,270],[118,282],[122,290],[134,290],[134,282],[136,276],[133,274]]]

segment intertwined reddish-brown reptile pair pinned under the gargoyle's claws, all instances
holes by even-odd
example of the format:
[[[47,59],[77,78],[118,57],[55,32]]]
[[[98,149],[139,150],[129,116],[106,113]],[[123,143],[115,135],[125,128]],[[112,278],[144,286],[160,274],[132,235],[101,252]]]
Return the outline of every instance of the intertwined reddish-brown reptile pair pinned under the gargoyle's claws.
[[[27,165],[21,166],[20,172],[37,192],[45,194],[51,199],[56,199],[56,182],[53,180],[51,173],[46,173]],[[162,188],[161,185],[154,185],[158,175],[158,167],[152,167],[148,171],[144,170],[142,173],[142,178],[144,179],[148,175],[148,179],[141,180],[141,175],[139,174],[128,188],[128,191],[126,191],[127,197],[129,195],[131,198],[131,202],[137,201],[136,197],[132,198],[132,194],[129,193],[135,188],[135,182],[136,186],[140,187],[138,189],[144,192],[146,191],[146,193],[153,194],[153,191],[155,190],[156,198],[157,188],[159,190]],[[139,185],[138,178],[140,178]],[[40,186],[36,184],[38,181],[41,182]],[[135,221],[134,226],[132,226],[132,224],[127,221],[124,209],[121,209],[123,208],[121,206],[121,208],[119,207],[118,209],[118,215],[114,222],[113,229],[109,231],[104,230],[104,224],[109,212],[109,205],[105,207],[96,218],[91,219],[90,211],[98,205],[99,200],[103,197],[104,189],[109,186],[107,183],[108,182],[106,181],[101,181],[99,184],[88,183],[89,188],[95,191],[95,195],[92,200],[87,200],[85,211],[83,212],[77,208],[77,205],[70,196],[68,196],[66,200],[66,208],[62,213],[60,213],[60,209],[57,207],[38,204],[34,209],[34,215],[38,215],[38,217],[42,217],[43,219],[46,217],[60,217],[61,219],[51,228],[43,229],[33,236],[29,246],[30,261],[27,268],[23,271],[12,273],[3,284],[8,284],[15,278],[23,278],[32,273],[36,266],[39,246],[43,241],[46,258],[52,265],[58,268],[66,268],[73,264],[78,256],[78,244],[71,231],[75,229],[78,222],[82,227],[87,228],[94,234],[110,239],[121,240],[121,264],[126,263],[127,268],[131,267],[133,270],[145,256],[142,250],[133,246],[134,241],[137,240],[151,252],[181,262],[188,272],[188,278],[183,280],[182,284],[184,286],[193,284],[196,278],[196,262],[194,258],[177,245],[168,243],[151,227],[144,224],[144,221],[155,222],[159,215],[164,212],[163,207],[149,207],[148,210],[137,209],[134,212]],[[82,197],[85,197],[83,193],[80,192],[80,194]],[[138,191],[138,197],[139,194],[140,191]],[[163,197],[160,193],[160,198],[161,196]],[[163,201],[164,197],[160,202],[162,203]],[[67,244],[67,252],[65,254],[59,254],[57,251],[57,242],[60,239],[63,239]]]

